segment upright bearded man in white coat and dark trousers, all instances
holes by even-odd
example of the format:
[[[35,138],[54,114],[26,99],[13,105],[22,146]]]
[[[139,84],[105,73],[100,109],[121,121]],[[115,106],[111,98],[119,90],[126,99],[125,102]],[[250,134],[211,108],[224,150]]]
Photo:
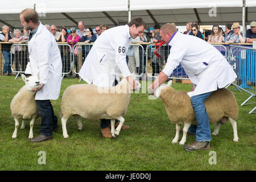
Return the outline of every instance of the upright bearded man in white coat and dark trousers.
[[[20,13],[20,22],[30,30],[28,52],[32,76],[40,75],[40,88],[35,100],[41,117],[40,135],[31,142],[43,142],[52,139],[52,131],[57,130],[57,117],[51,101],[57,100],[61,86],[61,57],[55,38],[51,32],[39,22],[38,13],[33,9],[25,9]]]

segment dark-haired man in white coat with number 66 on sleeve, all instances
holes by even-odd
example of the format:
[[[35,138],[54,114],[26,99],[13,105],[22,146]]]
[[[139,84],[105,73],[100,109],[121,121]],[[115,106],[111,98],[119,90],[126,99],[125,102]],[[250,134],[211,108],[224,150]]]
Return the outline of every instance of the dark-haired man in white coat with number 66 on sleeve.
[[[134,18],[125,26],[105,31],[94,42],[80,69],[79,76],[88,84],[109,87],[115,85],[115,78],[121,71],[124,79],[129,82],[130,88],[136,89],[137,85],[126,63],[126,52],[131,39],[141,36],[145,28],[146,23],[141,18]],[[118,125],[119,122],[116,121],[115,127]],[[122,126],[122,129],[129,128],[129,126]],[[101,119],[101,134],[104,138],[112,138],[108,119]]]

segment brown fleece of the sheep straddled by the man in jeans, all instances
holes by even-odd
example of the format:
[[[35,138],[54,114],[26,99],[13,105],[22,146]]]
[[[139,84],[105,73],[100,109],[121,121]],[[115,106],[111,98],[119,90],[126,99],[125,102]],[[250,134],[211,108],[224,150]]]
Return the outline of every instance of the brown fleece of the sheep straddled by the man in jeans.
[[[160,99],[173,123],[184,122],[196,125],[196,115],[187,91],[176,91],[171,87],[163,89]],[[220,121],[222,117],[238,118],[238,105],[234,94],[225,88],[214,91],[204,102],[210,124]]]

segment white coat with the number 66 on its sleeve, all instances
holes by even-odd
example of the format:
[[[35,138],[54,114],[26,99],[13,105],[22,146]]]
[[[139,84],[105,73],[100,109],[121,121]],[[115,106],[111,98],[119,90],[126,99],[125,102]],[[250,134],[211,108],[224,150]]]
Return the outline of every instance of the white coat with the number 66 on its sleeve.
[[[123,77],[131,73],[126,63],[126,52],[131,43],[129,26],[118,26],[104,31],[96,39],[85,59],[79,76],[88,84],[113,86],[119,72]]]

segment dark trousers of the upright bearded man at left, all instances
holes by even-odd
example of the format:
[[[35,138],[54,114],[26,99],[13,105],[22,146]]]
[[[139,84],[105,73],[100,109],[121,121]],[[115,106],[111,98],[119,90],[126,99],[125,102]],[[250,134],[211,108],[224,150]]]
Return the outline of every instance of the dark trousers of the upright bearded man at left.
[[[57,128],[57,117],[54,115],[51,101],[36,100],[36,106],[41,117],[41,134],[49,137],[52,135],[52,130]]]

